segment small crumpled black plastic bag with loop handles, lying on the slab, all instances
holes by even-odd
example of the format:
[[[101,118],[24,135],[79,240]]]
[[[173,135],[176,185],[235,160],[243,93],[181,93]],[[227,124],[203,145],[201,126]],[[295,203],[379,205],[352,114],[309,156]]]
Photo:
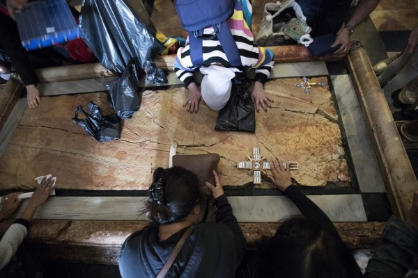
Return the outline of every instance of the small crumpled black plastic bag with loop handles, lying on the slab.
[[[74,111],[72,122],[82,126],[82,129],[93,136],[99,142],[106,142],[121,138],[121,120],[116,114],[103,115],[102,109],[97,104],[89,102],[88,113],[83,106],[77,106]],[[78,113],[86,116],[86,119],[79,119]]]

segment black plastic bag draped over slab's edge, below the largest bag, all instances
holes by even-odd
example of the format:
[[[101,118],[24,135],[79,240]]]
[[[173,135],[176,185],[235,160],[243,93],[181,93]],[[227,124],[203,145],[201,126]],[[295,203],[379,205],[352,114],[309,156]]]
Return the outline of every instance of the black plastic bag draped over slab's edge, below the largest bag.
[[[139,111],[139,107],[141,107],[138,87],[138,70],[134,63],[127,66],[120,79],[106,84],[106,88],[109,90],[107,100],[122,120],[132,117],[134,112]]]

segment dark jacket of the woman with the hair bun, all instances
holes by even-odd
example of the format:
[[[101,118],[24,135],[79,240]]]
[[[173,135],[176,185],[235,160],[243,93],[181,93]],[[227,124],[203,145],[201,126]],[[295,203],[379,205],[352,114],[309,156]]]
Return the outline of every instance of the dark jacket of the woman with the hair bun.
[[[196,225],[166,277],[234,277],[245,254],[245,238],[225,195],[215,206],[217,222]],[[186,229],[167,240],[158,238],[153,224],[132,234],[119,256],[122,277],[157,276]]]

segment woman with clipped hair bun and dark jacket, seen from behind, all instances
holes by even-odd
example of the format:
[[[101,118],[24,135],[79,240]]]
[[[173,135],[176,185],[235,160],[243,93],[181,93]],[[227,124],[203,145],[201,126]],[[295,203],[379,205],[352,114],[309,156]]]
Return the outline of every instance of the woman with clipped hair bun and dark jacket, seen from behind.
[[[144,210],[150,224],[123,243],[123,278],[235,275],[245,254],[245,238],[215,171],[213,175],[215,186],[206,182],[206,187],[217,207],[216,222],[199,223],[202,185],[196,174],[182,167],[155,170]],[[171,255],[178,248],[180,252]]]

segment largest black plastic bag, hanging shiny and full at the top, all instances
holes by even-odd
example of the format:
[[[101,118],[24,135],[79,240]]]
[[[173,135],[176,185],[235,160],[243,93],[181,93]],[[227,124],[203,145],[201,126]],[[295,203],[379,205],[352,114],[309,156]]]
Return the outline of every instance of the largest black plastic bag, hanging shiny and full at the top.
[[[103,67],[118,75],[131,60],[144,69],[165,49],[122,0],[83,0],[79,28]]]

